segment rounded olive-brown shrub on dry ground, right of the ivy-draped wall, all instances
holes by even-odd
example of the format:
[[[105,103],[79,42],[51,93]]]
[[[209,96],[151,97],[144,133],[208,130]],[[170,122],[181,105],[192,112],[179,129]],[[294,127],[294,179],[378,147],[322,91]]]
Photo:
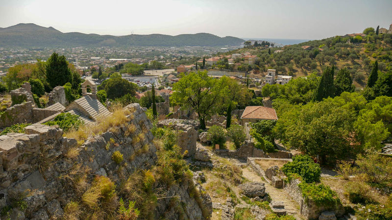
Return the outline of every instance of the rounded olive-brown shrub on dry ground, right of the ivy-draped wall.
[[[345,185],[344,194],[352,203],[376,203],[373,198],[370,186],[361,181],[348,182]]]

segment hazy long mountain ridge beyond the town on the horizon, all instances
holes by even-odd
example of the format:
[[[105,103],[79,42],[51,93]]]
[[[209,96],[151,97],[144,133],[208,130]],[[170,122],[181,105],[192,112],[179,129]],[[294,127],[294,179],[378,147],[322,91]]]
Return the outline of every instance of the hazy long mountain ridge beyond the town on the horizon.
[[[63,33],[53,27],[42,27],[33,23],[20,23],[0,28],[0,47],[76,47],[76,46],[235,46],[243,39],[218,37],[207,33],[149,35],[98,35],[79,32]]]

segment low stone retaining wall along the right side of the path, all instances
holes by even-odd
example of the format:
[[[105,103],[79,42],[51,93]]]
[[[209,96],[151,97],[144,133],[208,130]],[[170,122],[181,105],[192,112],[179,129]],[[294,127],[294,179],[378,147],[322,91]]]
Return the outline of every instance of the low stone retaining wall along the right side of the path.
[[[311,199],[305,201],[305,198],[302,196],[302,191],[298,186],[299,183],[301,183],[301,181],[298,179],[292,179],[290,183],[285,185],[284,189],[299,204],[299,211],[305,219],[319,219],[319,216],[323,211],[333,211],[338,217],[344,215],[344,209],[341,204],[338,207],[327,208],[316,205]]]

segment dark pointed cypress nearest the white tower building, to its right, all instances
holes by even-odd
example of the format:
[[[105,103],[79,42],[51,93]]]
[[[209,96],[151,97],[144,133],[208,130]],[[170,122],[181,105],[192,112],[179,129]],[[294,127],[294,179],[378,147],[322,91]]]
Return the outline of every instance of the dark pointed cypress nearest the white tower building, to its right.
[[[335,87],[334,87],[334,72],[335,66],[327,66],[321,76],[319,85],[316,88],[316,92],[313,95],[313,101],[321,101],[324,98],[334,97]]]

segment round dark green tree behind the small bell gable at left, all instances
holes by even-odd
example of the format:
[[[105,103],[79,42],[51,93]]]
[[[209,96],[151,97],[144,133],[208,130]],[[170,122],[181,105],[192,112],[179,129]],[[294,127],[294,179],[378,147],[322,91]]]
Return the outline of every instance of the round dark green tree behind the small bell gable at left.
[[[130,83],[123,78],[106,80],[106,94],[109,99],[120,98],[125,94],[135,95],[137,85]]]

